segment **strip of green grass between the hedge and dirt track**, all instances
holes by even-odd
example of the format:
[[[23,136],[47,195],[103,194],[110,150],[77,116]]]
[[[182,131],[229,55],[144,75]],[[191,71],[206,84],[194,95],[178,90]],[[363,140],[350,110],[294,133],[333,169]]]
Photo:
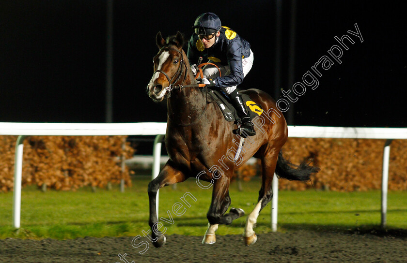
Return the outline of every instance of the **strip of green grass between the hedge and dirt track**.
[[[83,188],[76,192],[48,190],[41,192],[35,187],[22,191],[21,228],[12,227],[13,193],[0,193],[0,238],[77,238],[84,236],[136,236],[148,231],[149,179],[137,177],[133,187],[121,193],[98,189],[92,192]],[[258,198],[259,179],[243,184],[244,191],[230,187],[232,207],[249,213]],[[176,216],[172,205],[181,202],[185,192],[197,199],[189,201],[191,207],[182,216]],[[206,212],[210,205],[212,188],[199,188],[194,179],[159,192],[159,217],[170,210],[174,224],[164,222],[166,234],[203,235],[206,231]],[[188,199],[190,200],[190,199]],[[407,192],[389,192],[388,226],[407,228]],[[270,205],[261,212],[255,231],[271,232]],[[279,231],[313,229],[316,231],[348,231],[368,229],[380,224],[380,191],[327,192],[327,191],[280,191]],[[245,218],[236,219],[229,226],[220,226],[217,234],[241,234]]]

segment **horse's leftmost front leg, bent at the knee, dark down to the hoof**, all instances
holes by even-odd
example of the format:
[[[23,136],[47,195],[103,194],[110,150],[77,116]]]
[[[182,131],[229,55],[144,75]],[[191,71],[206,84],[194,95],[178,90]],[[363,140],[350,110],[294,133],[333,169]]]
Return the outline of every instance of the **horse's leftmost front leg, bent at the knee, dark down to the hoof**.
[[[165,235],[162,234],[159,229],[158,217],[157,217],[157,206],[156,206],[156,199],[157,199],[157,191],[158,189],[172,185],[178,182],[183,182],[187,179],[187,176],[179,171],[178,169],[174,168],[171,162],[167,162],[164,168],[161,170],[157,178],[152,180],[148,184],[148,198],[150,201],[150,219],[149,225],[151,227],[151,237],[153,241],[153,245],[156,248],[160,248],[164,246],[166,238]]]

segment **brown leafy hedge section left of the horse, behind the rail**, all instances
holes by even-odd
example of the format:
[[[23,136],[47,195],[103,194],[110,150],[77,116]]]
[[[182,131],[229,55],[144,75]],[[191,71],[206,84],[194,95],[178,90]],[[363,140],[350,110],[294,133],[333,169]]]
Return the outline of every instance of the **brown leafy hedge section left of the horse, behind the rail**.
[[[0,136],[0,191],[13,189],[17,136]],[[106,187],[125,179],[120,157],[132,156],[126,136],[30,136],[24,141],[22,185],[47,185],[55,190]],[[125,143],[124,149],[122,145]]]

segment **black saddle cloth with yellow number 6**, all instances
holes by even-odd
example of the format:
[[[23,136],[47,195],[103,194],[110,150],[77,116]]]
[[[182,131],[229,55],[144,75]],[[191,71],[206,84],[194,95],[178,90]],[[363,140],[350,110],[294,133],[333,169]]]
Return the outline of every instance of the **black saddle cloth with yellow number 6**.
[[[240,117],[237,115],[235,107],[232,105],[229,98],[226,99],[227,95],[225,96],[224,94],[225,93],[219,90],[208,90],[208,95],[218,104],[227,121],[240,121]],[[249,95],[243,93],[240,94],[242,95],[246,111],[249,113],[251,120],[263,113],[262,107],[259,104],[256,104],[256,102],[253,102]]]

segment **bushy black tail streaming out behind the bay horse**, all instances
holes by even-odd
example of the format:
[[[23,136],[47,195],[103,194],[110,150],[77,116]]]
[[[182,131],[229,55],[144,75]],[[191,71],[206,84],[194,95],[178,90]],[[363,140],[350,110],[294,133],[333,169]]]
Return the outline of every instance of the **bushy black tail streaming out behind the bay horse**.
[[[282,157],[282,151],[279,153],[276,166],[276,174],[280,178],[296,181],[309,181],[312,173],[318,173],[319,167],[308,165],[305,161],[300,165],[295,165]]]

